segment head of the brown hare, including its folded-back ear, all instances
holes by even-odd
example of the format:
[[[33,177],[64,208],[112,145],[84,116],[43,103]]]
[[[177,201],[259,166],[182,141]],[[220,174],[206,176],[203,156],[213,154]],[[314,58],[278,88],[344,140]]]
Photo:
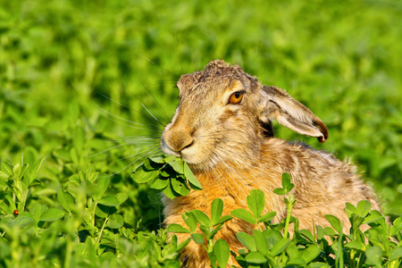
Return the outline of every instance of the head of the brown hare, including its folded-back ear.
[[[161,146],[194,169],[252,163],[264,138],[273,135],[272,120],[321,142],[328,138],[324,123],[306,106],[236,64],[213,61],[204,71],[182,75],[177,87],[180,105],[163,130]]]

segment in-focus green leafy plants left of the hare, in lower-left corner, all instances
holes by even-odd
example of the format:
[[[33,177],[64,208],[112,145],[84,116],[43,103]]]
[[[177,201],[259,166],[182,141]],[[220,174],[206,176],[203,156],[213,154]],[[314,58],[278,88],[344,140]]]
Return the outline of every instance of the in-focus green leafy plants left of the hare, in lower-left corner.
[[[43,163],[30,167],[22,157],[15,165],[2,163],[0,267],[180,267],[185,244],[174,237],[168,244],[165,230],[134,231],[121,214],[128,195],[110,190],[110,176],[89,164],[58,190],[44,190],[46,180],[38,178]]]

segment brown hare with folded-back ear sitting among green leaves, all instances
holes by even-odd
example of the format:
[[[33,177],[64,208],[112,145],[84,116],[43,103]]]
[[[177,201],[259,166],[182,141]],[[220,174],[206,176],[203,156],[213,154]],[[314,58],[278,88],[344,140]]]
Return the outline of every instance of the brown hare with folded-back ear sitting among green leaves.
[[[224,202],[223,214],[247,207],[246,197],[253,188],[264,191],[264,213],[277,212],[273,222],[281,222],[286,206],[272,190],[281,187],[283,172],[289,172],[295,185],[292,215],[300,229],[313,230],[313,221],[329,226],[324,215],[332,214],[347,232],[347,202],[356,205],[365,199],[380,210],[372,188],[360,180],[355,166],[304,144],[272,137],[271,121],[276,120],[320,142],[328,138],[325,124],[285,90],[266,87],[238,65],[222,60],[208,63],[204,71],[182,75],[177,87],[180,105],[163,130],[161,147],[165,154],[187,162],[204,189],[192,190],[187,197],[163,197],[166,224],[184,225],[181,214],[193,209],[210,215],[211,203],[218,197]],[[233,219],[224,224],[217,239],[225,239],[237,252],[243,247],[236,233],[255,228]],[[236,264],[230,257],[230,264]],[[183,250],[182,261],[185,267],[209,267],[205,249],[194,242]]]

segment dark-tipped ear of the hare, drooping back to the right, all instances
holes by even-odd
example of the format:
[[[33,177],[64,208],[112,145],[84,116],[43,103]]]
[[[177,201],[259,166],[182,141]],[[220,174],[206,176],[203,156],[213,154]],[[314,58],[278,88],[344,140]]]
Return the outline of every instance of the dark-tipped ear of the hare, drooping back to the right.
[[[259,120],[276,120],[281,125],[306,136],[317,137],[320,142],[328,138],[325,124],[305,105],[276,87],[265,87],[261,91]]]

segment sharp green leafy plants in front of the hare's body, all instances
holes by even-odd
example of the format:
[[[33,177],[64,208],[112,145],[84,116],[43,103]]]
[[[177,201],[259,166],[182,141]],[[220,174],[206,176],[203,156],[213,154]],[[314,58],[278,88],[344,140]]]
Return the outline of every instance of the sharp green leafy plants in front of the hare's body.
[[[270,220],[276,215],[271,212],[262,214],[265,200],[264,192],[252,189],[247,197],[248,209],[236,209],[231,215],[245,222],[256,224],[252,234],[239,232],[237,239],[245,249],[232,252],[241,267],[399,267],[402,264],[401,234],[402,217],[389,228],[386,219],[377,211],[371,211],[371,205],[363,200],[354,205],[347,204],[346,213],[352,223],[350,234],[342,232],[339,219],[326,215],[331,227],[316,225],[314,233],[298,230],[298,221],[291,217],[292,205],[296,202],[289,194],[293,188],[289,174],[282,175],[282,188],[275,193],[288,195],[284,200],[287,205],[287,217],[282,222],[273,224]],[[188,233],[197,244],[204,245],[212,267],[225,267],[230,255],[228,244],[214,236],[222,229],[222,224],[232,219],[222,217],[223,202],[215,199],[211,207],[211,219],[198,210],[182,215],[188,229],[179,224],[171,224],[167,231]],[[197,222],[203,234],[197,232]],[[261,226],[264,222],[264,230]],[[289,223],[294,222],[294,236],[289,238]],[[362,224],[368,224],[369,230],[360,230]],[[397,237],[398,241],[393,239]],[[188,240],[186,241],[186,243]],[[333,258],[335,256],[335,258]]]

